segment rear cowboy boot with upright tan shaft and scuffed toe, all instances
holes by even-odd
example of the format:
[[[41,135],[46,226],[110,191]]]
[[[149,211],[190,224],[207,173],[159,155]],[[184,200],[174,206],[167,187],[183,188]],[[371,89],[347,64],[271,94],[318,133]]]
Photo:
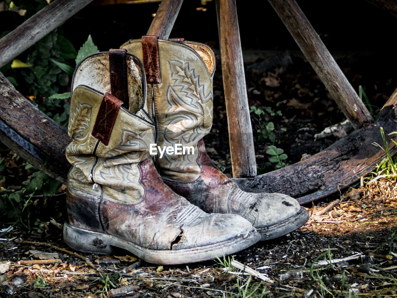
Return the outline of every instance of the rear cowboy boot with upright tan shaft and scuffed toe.
[[[285,235],[309,219],[306,209],[283,194],[240,190],[206,154],[202,137],[212,125],[215,55],[208,46],[183,39],[144,36],[121,46],[143,61],[152,116],[158,130],[156,163],[163,181],[208,213],[238,214],[262,240]],[[164,148],[175,149],[164,151]],[[177,153],[177,154],[175,154]]]

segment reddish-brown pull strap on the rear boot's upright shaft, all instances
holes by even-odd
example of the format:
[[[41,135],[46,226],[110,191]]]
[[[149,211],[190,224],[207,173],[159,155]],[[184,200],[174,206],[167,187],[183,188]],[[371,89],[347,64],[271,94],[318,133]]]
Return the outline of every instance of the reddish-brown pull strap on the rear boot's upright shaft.
[[[161,83],[158,36],[146,35],[142,37],[142,54],[146,83]]]

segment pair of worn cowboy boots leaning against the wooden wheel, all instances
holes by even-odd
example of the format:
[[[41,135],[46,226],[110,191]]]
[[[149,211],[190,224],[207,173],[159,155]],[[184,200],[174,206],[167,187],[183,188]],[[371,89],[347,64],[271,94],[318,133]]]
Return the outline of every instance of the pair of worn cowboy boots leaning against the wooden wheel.
[[[120,247],[151,263],[190,263],[307,221],[294,199],[242,192],[212,164],[202,137],[212,124],[214,55],[204,45],[182,43],[144,37],[122,46],[136,56],[112,50],[77,67],[66,151],[72,168],[64,239],[72,248]],[[160,177],[149,155],[154,143],[194,150],[158,155]]]

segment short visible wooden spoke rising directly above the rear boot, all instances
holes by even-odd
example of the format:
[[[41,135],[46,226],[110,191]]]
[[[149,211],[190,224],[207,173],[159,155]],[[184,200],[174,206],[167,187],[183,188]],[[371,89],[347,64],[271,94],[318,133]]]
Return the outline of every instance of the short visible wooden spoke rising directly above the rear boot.
[[[146,35],[157,35],[160,39],[168,39],[182,2],[183,0],[163,0]]]

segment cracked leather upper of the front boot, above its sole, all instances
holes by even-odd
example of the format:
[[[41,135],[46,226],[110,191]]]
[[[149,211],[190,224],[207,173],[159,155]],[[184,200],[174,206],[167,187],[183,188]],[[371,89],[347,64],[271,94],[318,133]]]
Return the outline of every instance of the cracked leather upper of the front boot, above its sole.
[[[97,83],[91,88],[103,87]],[[108,145],[96,139],[92,132],[103,116],[99,112],[104,95],[91,88],[75,86],[71,97],[72,142],[66,150],[72,165],[67,184],[69,224],[152,250],[206,247],[241,235],[250,235],[253,241],[256,232],[247,220],[207,214],[164,184],[149,155],[155,125],[145,110],[132,113],[119,108]]]

